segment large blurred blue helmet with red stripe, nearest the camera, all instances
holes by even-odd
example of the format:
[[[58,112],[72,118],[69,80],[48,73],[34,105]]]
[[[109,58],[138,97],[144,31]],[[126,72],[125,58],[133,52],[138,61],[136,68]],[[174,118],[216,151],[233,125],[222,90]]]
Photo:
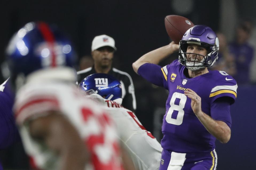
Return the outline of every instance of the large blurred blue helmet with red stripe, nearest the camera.
[[[64,72],[70,75],[66,77],[71,77],[71,72],[75,72],[73,66],[76,63],[76,55],[69,40],[57,27],[44,22],[27,23],[15,33],[7,46],[6,55],[11,81],[14,84],[20,77],[24,80],[32,72],[49,68],[68,68],[69,71]],[[62,71],[62,74],[65,73]],[[47,76],[53,77],[53,74],[48,73]],[[55,76],[57,77],[57,74]]]

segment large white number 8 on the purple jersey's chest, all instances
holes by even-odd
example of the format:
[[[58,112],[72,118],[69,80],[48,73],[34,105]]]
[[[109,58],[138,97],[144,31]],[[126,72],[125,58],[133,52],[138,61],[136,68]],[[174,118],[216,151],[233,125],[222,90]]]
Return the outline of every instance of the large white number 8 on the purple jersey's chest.
[[[180,102],[179,105],[175,105],[175,99],[179,98]],[[187,101],[187,96],[182,93],[175,92],[172,95],[171,101],[170,101],[170,108],[167,112],[166,115],[166,122],[174,125],[181,125],[183,121],[183,116],[184,116],[184,110],[183,108],[185,107],[185,103]],[[172,113],[174,110],[178,111],[177,119],[172,118]]]

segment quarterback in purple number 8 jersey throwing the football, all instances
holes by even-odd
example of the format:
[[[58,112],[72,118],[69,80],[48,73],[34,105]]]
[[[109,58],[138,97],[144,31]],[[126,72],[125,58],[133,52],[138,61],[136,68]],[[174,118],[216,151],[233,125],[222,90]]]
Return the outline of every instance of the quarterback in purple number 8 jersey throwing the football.
[[[178,60],[157,65],[178,49]],[[230,105],[237,97],[233,77],[207,69],[218,59],[218,51],[215,32],[196,25],[186,31],[179,45],[171,42],[133,63],[137,74],[169,90],[160,170],[216,169],[215,140],[229,141]]]

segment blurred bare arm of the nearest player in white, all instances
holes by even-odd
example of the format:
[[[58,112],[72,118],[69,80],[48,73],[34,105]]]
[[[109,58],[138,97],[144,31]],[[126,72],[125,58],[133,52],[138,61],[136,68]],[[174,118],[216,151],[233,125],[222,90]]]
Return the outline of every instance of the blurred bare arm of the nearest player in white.
[[[61,158],[62,170],[84,170],[88,152],[75,127],[56,111],[30,121],[30,135],[44,142]]]

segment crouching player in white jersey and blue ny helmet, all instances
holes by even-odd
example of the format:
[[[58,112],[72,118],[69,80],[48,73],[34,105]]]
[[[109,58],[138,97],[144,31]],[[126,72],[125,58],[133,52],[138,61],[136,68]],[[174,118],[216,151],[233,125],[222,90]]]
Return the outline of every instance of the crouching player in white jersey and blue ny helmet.
[[[162,147],[148,132],[136,115],[122,103],[120,82],[109,74],[96,73],[87,76],[79,88],[89,98],[106,106],[106,111],[117,125],[122,146],[128,152],[137,170],[159,169]]]

